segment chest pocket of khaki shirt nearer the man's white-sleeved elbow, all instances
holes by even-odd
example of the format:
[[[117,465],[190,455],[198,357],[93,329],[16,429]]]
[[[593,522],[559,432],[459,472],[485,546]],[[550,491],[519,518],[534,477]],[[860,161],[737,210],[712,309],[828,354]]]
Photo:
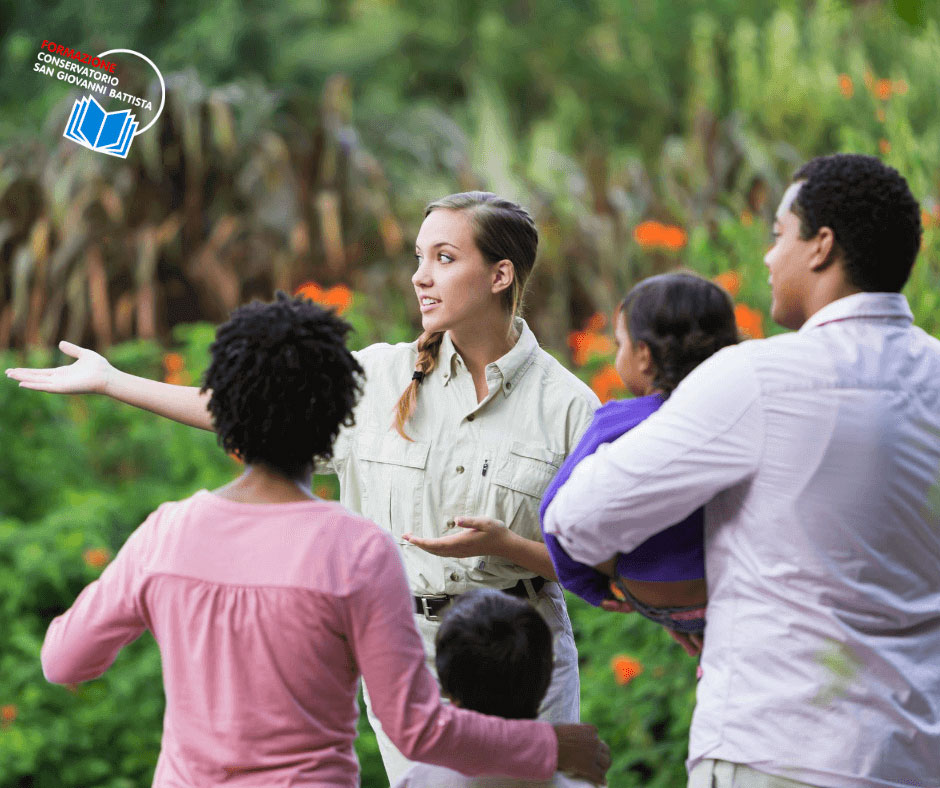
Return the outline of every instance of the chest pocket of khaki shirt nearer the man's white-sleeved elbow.
[[[560,452],[521,441],[514,441],[497,458],[491,486],[493,508],[520,536],[542,540],[539,504],[563,459]]]

